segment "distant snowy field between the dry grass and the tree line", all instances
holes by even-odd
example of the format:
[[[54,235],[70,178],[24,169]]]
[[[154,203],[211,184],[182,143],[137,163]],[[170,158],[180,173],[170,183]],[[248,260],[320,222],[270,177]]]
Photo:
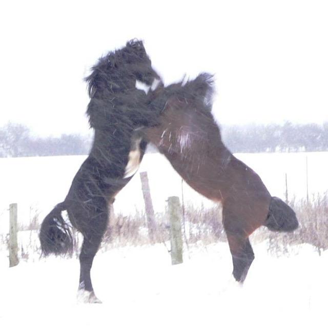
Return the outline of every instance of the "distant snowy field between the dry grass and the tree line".
[[[285,173],[288,177],[289,198],[306,197],[306,157],[308,157],[309,194],[328,190],[328,152],[320,153],[260,153],[236,154],[254,169],[272,195],[284,199]],[[43,218],[63,201],[71,181],[86,156],[54,156],[0,158],[0,232],[8,231],[8,208],[18,203],[18,221],[29,223],[35,211]],[[160,154],[146,154],[141,171],[149,176],[155,212],[162,212],[169,196],[181,196],[181,178]],[[183,184],[186,202],[194,205],[213,203]],[[140,177],[137,173],[117,195],[116,213],[135,213],[144,210]]]

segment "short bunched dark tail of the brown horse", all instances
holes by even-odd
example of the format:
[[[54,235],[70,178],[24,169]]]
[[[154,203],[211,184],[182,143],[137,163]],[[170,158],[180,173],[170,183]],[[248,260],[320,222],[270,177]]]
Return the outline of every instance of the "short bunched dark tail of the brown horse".
[[[272,197],[267,220],[264,223],[272,231],[290,232],[298,228],[295,212],[278,197]]]

